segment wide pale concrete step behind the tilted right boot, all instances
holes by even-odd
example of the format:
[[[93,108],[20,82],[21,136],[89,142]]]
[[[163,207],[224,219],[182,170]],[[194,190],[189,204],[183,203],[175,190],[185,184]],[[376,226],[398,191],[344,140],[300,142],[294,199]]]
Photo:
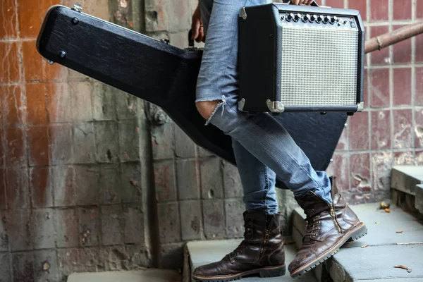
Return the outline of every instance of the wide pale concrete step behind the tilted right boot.
[[[423,281],[422,222],[396,206],[391,207],[389,213],[379,209],[379,203],[351,208],[366,224],[368,233],[358,241],[343,245],[324,264],[333,281]],[[302,209],[293,212],[293,225],[293,239],[299,247],[306,226]],[[407,266],[412,272],[394,268],[395,265]]]

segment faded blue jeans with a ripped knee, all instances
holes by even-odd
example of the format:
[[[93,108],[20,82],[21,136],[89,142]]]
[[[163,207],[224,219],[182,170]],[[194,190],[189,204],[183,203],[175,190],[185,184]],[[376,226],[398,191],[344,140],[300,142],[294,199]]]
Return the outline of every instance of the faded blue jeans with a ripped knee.
[[[206,121],[233,140],[247,210],[278,211],[276,176],[296,197],[312,190],[331,203],[331,183],[324,171],[314,171],[277,116],[249,116],[238,103],[238,15],[243,6],[271,0],[199,0],[206,42],[197,80],[197,99],[221,101]],[[257,54],[265,56],[265,54]]]

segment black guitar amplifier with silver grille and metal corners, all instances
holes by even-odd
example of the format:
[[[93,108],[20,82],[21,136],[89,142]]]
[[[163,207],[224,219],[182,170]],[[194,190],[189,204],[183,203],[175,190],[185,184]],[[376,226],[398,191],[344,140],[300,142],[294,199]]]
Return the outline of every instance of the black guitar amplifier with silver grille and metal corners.
[[[363,110],[364,26],[357,10],[244,7],[238,56],[240,111]]]

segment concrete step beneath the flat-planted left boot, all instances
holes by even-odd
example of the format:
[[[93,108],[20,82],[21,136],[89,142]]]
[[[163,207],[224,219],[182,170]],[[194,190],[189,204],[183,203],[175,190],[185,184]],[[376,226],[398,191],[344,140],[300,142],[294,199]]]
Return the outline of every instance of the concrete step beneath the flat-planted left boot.
[[[191,280],[190,273],[195,270],[198,266],[209,264],[221,260],[226,254],[235,250],[236,247],[241,243],[241,239],[234,240],[209,240],[209,241],[193,241],[186,245],[185,262],[188,262],[191,271],[187,271],[187,275],[184,272],[184,282],[193,282]],[[305,282],[317,282],[311,272],[305,274],[301,278],[291,278],[288,272],[288,264],[293,260],[296,249],[295,245],[286,245],[286,275],[281,277],[272,278],[259,278],[258,276],[251,276],[243,278],[237,281],[242,282],[293,282],[293,281],[305,281]]]

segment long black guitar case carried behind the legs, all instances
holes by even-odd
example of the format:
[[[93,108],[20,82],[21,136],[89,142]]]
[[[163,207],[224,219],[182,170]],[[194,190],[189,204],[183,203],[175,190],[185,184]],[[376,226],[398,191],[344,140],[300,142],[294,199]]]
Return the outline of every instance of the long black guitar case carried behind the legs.
[[[236,166],[231,137],[214,125],[204,125],[195,107],[202,50],[173,47],[65,6],[51,6],[47,11],[37,50],[49,61],[160,106],[197,145]],[[324,171],[347,114],[284,113],[275,118],[313,168]],[[286,189],[280,180],[276,185]]]

